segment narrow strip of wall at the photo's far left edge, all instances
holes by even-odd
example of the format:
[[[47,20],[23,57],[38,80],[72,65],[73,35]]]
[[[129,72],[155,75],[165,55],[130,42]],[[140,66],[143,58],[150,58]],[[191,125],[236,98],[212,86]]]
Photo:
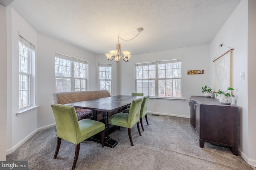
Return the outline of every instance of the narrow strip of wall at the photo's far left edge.
[[[6,7],[0,5],[0,160],[6,160],[6,112],[7,112],[7,23]]]

